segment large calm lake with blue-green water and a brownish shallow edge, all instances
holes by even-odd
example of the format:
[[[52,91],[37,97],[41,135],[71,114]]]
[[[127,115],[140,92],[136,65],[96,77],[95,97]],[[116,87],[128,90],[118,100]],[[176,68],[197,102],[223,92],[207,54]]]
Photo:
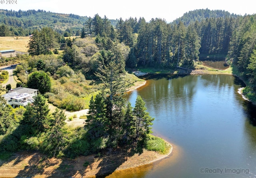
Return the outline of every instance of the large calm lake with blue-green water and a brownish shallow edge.
[[[147,80],[128,94],[140,95],[155,118],[153,132],[173,145],[164,160],[114,172],[119,178],[256,177],[255,108],[237,93],[231,75]]]

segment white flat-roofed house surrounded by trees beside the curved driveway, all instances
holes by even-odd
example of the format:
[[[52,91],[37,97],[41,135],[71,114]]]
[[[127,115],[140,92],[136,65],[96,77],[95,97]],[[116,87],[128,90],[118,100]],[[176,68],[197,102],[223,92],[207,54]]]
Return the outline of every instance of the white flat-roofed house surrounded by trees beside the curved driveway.
[[[37,96],[38,90],[32,88],[18,87],[9,90],[8,93],[2,96],[6,100],[6,103],[13,108],[19,106],[27,106],[29,103],[34,102],[34,98]]]

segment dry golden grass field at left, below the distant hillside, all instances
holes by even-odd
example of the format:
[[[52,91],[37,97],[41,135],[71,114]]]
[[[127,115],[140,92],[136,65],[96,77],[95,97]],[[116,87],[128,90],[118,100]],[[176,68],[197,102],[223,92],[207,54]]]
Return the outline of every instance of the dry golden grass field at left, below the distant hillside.
[[[28,52],[28,36],[2,36],[0,37],[0,50],[16,50]]]

